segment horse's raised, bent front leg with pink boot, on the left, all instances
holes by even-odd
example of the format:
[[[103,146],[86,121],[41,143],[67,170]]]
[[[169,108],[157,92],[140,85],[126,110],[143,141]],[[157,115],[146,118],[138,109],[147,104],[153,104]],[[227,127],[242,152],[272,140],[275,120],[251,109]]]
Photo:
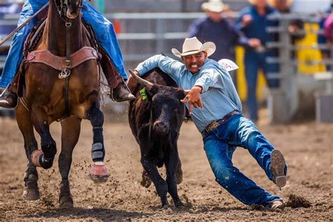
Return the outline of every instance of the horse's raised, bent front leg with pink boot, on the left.
[[[39,133],[39,136],[41,136],[41,150],[36,150],[32,153],[32,162],[35,166],[49,169],[53,165],[53,159],[57,152],[57,148],[50,133],[48,117],[42,108],[32,107],[31,118],[34,123],[34,128],[37,133]]]

